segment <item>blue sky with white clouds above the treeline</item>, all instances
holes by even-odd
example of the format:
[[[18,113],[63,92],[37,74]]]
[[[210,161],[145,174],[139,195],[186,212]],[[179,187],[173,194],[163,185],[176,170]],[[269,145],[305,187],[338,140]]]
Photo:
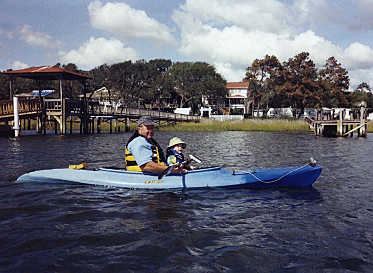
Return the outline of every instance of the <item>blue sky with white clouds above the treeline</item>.
[[[0,71],[170,59],[240,82],[255,59],[301,52],[373,88],[373,0],[0,0]]]

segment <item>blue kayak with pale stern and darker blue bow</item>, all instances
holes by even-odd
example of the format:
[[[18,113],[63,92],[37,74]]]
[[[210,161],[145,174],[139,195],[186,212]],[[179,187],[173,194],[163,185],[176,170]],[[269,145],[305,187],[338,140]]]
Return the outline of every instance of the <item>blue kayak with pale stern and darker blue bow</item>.
[[[123,169],[99,168],[96,170],[51,169],[34,171],[20,176],[17,182],[82,183],[124,188],[275,188],[310,186],[319,177],[320,165],[306,164],[258,170],[227,170],[210,167],[189,171],[186,175],[171,173],[158,179],[159,174],[129,172]]]

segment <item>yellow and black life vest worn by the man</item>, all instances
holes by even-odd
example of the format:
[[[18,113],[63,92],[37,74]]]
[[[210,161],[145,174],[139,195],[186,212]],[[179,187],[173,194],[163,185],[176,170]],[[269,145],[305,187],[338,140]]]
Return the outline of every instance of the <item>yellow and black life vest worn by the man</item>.
[[[152,161],[159,164],[159,165],[162,165],[162,166],[165,166],[165,157],[164,157],[164,154],[163,154],[163,150],[161,148],[161,146],[159,146],[158,142],[154,139],[148,139],[142,135],[140,135],[137,130],[132,134],[132,136],[130,137],[130,139],[128,140],[127,144],[126,144],[126,149],[125,149],[125,161],[126,161],[126,170],[127,171],[131,171],[131,172],[142,172],[140,166],[137,164],[135,158],[133,157],[133,155],[128,151],[127,149],[127,146],[128,144],[134,140],[136,137],[143,137],[146,139],[147,142],[149,142],[151,145],[152,145]]]

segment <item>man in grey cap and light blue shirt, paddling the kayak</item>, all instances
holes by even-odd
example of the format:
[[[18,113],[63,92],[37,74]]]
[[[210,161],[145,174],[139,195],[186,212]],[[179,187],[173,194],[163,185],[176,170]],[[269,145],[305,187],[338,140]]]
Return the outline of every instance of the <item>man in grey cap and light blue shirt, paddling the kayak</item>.
[[[137,130],[129,138],[125,149],[127,171],[162,173],[166,168],[163,150],[153,138],[154,121],[149,116],[143,116],[137,122]],[[183,165],[172,171],[186,173]]]

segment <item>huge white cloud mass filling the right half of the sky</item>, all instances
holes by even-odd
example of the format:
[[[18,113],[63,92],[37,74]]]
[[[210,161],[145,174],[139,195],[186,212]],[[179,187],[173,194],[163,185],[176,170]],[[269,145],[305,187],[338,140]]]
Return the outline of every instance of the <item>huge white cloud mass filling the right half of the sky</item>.
[[[329,12],[337,4],[327,5],[323,0],[295,0],[291,6],[278,0],[266,0],[263,5],[262,1],[187,0],[174,11],[172,18],[181,29],[179,52],[190,59],[214,64],[228,81],[244,78],[245,69],[253,60],[266,54],[275,55],[283,62],[309,52],[318,68],[334,56],[349,72],[373,69],[370,47],[353,43],[344,50],[317,35],[311,26],[305,28],[320,16],[318,13]],[[284,12],[288,15],[283,15]],[[361,82],[354,79],[351,84]]]

